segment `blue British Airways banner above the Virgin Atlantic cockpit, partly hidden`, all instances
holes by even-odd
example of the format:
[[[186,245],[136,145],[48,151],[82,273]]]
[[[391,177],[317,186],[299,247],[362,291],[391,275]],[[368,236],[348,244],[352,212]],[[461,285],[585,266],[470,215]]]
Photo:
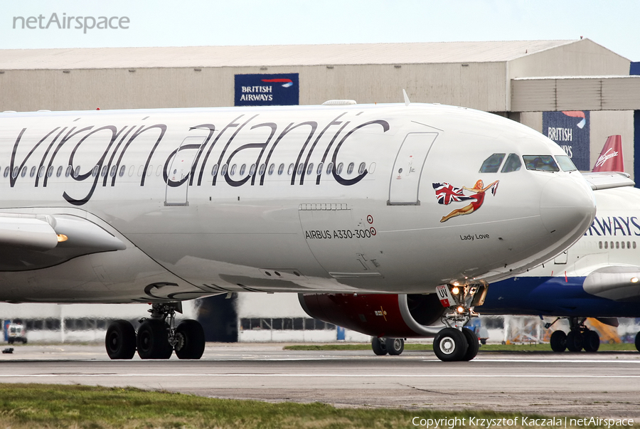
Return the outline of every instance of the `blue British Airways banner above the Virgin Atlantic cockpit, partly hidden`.
[[[590,171],[590,112],[543,112],[543,134],[558,143],[580,171]]]

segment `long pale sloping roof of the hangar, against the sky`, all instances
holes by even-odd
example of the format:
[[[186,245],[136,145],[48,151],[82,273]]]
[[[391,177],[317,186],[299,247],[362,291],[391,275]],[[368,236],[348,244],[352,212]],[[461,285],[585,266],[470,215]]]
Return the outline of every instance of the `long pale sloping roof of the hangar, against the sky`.
[[[579,41],[0,50],[0,70],[492,63]]]

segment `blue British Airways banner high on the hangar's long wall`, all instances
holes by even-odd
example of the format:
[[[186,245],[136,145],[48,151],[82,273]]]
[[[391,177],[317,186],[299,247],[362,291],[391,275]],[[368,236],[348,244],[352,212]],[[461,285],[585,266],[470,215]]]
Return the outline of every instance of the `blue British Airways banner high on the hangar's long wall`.
[[[299,88],[298,73],[235,75],[235,105],[298,105]]]

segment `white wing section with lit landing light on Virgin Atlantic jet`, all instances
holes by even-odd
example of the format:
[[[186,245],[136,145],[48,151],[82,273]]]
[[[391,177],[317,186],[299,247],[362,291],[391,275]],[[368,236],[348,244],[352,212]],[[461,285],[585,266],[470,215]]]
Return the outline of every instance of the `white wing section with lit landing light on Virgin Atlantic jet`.
[[[122,240],[79,216],[0,213],[0,270],[36,270],[125,248]]]

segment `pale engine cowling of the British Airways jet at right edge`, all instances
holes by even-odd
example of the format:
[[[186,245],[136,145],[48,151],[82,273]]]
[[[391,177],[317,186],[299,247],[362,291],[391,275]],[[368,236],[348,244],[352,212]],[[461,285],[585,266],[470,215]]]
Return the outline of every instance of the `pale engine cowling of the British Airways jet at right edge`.
[[[640,301],[640,267],[609,265],[587,275],[582,288],[590,295],[614,301]]]

